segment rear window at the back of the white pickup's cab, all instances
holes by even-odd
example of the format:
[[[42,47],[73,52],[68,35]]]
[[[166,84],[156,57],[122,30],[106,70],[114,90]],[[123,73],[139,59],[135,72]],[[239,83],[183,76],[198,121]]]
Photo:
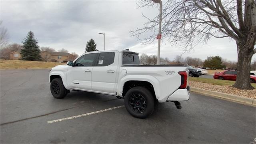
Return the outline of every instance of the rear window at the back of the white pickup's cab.
[[[130,52],[123,52],[122,64],[140,64],[139,55]]]

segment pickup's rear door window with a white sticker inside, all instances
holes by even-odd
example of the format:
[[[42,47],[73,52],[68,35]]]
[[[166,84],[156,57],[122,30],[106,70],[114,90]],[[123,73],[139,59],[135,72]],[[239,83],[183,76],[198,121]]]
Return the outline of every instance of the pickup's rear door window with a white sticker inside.
[[[108,66],[114,63],[115,53],[114,52],[102,52],[100,53],[97,66]]]

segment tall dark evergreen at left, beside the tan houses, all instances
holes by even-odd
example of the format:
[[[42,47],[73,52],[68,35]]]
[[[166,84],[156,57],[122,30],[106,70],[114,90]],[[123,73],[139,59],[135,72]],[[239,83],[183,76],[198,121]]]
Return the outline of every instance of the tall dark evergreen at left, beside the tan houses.
[[[33,32],[28,32],[28,35],[26,38],[24,38],[24,41],[22,42],[22,49],[21,49],[21,56],[22,60],[32,60],[32,61],[40,61],[40,49],[38,46],[38,42],[36,38],[34,38]]]

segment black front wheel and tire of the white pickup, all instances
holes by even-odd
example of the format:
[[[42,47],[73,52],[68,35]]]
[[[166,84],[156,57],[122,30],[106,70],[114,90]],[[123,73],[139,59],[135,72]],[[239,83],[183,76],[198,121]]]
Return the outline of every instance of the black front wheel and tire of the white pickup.
[[[50,85],[51,93],[54,98],[64,98],[68,90],[64,87],[61,78],[54,78]]]

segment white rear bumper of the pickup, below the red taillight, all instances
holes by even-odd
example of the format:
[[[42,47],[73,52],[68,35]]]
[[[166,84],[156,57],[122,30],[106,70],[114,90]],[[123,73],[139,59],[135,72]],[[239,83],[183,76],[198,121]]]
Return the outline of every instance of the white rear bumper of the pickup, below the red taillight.
[[[189,86],[187,89],[178,89],[168,97],[167,101],[187,101],[190,98],[189,90]]]

